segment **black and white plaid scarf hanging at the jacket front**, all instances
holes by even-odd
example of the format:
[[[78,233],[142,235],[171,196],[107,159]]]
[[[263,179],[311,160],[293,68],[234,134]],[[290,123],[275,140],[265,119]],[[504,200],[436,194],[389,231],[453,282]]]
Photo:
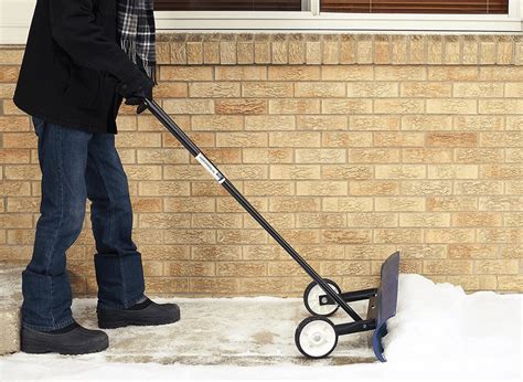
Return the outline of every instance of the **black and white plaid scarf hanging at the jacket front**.
[[[124,52],[156,83],[153,0],[118,0],[118,35]]]

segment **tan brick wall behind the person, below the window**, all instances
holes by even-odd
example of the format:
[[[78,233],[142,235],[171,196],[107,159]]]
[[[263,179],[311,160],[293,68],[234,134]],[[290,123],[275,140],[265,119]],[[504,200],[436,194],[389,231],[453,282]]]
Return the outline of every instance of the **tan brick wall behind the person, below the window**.
[[[322,275],[375,285],[381,262],[467,290],[522,291],[523,39],[170,34],[156,97]],[[36,140],[0,49],[0,262],[26,263]],[[299,295],[300,268],[150,115],[118,149],[150,294]],[[68,252],[96,290],[85,230]]]

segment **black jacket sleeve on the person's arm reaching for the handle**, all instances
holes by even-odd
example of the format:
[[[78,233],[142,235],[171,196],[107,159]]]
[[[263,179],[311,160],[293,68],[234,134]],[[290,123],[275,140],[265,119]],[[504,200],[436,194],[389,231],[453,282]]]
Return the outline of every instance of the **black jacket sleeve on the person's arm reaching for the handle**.
[[[104,0],[102,0],[104,1]],[[81,66],[106,71],[124,83],[143,74],[95,24],[93,0],[50,0],[52,36]]]

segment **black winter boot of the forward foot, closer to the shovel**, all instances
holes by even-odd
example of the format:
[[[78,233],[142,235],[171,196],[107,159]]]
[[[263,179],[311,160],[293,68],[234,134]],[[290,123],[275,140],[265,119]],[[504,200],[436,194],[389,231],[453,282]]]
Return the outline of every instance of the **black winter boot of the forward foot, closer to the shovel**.
[[[98,327],[103,329],[116,329],[129,325],[166,325],[180,320],[178,305],[156,304],[147,297],[127,309],[97,308],[96,312],[98,315]]]

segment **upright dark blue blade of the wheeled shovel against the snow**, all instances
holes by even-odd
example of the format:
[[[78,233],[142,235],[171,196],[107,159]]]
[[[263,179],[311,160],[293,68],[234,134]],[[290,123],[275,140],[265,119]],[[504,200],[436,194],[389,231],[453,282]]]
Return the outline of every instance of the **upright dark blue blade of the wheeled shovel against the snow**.
[[[372,337],[372,348],[376,358],[382,362],[386,362],[385,356],[383,356],[382,338],[387,335],[387,320],[396,316],[398,274],[399,252],[396,252],[383,263],[380,288],[377,289],[376,329]]]

